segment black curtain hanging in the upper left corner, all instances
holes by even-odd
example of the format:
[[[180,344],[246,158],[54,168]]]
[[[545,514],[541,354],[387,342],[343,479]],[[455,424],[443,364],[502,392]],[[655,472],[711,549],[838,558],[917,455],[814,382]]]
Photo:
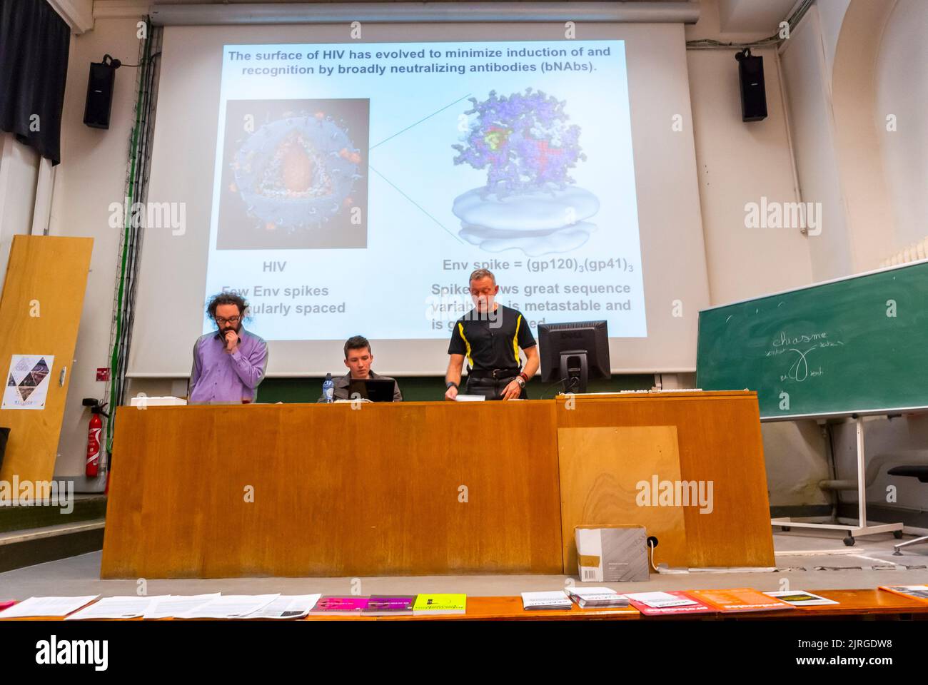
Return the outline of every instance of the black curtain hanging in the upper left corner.
[[[45,0],[0,0],[0,129],[53,164],[70,45],[68,24]]]

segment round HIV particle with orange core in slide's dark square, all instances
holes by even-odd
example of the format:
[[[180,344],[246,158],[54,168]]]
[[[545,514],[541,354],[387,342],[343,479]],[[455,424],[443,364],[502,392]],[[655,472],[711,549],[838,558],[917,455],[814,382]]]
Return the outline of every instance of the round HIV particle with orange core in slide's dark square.
[[[324,112],[285,116],[242,143],[231,189],[268,230],[310,229],[352,204],[360,162],[347,131]]]

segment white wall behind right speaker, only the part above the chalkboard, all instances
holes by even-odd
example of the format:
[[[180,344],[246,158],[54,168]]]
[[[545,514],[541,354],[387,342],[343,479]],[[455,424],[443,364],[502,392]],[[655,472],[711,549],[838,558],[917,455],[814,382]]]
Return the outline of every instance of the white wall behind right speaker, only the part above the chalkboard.
[[[793,162],[775,50],[764,58],[767,119],[741,121],[738,63],[728,50],[690,50],[690,97],[712,304],[806,285],[807,242],[796,228],[749,228],[744,205],[794,202]]]

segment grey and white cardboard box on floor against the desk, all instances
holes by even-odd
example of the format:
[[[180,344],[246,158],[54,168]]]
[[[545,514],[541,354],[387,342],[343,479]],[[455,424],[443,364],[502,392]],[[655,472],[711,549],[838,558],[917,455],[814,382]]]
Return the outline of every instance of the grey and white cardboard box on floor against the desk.
[[[578,525],[577,574],[583,583],[648,580],[648,536],[641,525]]]

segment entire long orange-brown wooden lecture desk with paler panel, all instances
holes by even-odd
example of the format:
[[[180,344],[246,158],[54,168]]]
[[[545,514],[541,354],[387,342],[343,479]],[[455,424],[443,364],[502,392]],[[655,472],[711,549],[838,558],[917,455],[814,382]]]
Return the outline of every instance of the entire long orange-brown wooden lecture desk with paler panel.
[[[637,506],[659,464],[713,481],[713,511]],[[574,574],[581,523],[772,565],[766,484],[747,392],[119,407],[101,577]]]

